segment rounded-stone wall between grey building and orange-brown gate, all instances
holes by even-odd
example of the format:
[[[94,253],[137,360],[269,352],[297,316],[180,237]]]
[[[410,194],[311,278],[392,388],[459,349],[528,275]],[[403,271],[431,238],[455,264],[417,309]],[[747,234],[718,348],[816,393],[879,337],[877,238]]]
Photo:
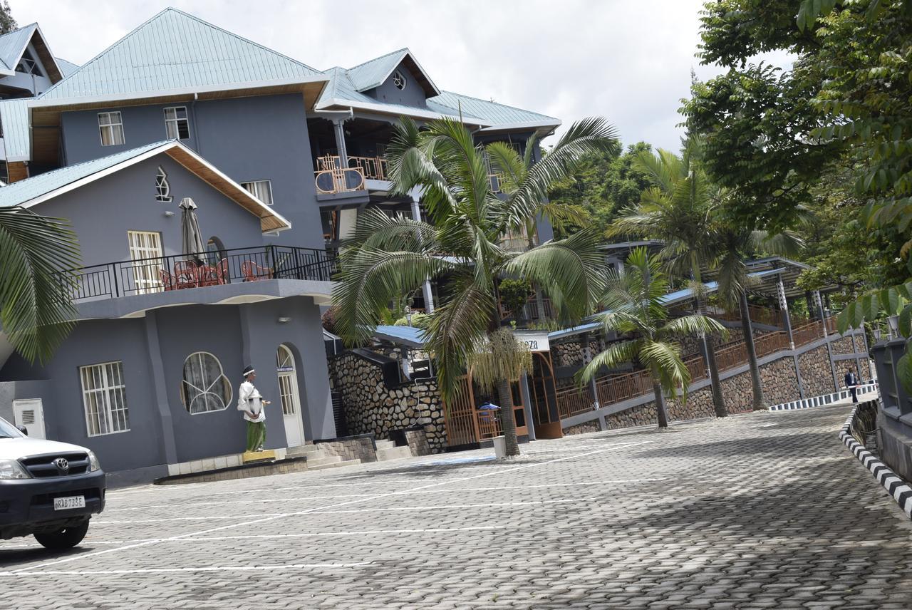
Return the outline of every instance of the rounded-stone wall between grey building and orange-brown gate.
[[[446,448],[443,400],[436,379],[388,388],[380,368],[354,354],[330,359],[329,371],[342,394],[350,434],[372,432],[378,439],[389,439],[390,430],[423,426],[431,451]]]

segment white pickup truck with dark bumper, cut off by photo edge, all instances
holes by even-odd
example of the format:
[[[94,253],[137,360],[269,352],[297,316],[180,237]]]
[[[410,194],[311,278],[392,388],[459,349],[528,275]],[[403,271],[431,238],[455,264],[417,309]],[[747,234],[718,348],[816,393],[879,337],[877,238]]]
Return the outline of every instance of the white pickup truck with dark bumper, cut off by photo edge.
[[[94,453],[29,439],[0,418],[0,540],[34,535],[48,549],[68,549],[104,507],[105,473]]]

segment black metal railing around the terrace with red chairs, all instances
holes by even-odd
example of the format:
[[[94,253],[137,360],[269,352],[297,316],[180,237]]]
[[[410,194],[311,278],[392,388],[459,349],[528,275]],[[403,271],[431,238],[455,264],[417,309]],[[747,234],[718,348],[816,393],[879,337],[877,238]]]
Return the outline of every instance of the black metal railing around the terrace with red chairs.
[[[313,248],[233,248],[83,267],[64,290],[79,302],[275,278],[328,282],[335,265],[326,251]]]

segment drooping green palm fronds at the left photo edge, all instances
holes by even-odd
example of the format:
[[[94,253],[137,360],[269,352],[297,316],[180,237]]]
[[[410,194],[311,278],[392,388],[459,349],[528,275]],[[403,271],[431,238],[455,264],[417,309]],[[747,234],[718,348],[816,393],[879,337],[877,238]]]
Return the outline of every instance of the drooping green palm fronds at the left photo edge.
[[[29,362],[42,364],[67,338],[76,308],[67,290],[78,266],[67,221],[0,207],[0,326]]]

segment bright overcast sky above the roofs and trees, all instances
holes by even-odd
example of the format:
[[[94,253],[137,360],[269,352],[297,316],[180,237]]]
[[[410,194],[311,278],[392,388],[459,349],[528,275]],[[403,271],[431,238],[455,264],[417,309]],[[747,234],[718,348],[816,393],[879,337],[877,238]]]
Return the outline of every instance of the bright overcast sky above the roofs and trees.
[[[678,150],[702,0],[9,0],[82,64],[168,5],[317,69],[409,47],[438,87]],[[546,142],[548,143],[548,142]]]

